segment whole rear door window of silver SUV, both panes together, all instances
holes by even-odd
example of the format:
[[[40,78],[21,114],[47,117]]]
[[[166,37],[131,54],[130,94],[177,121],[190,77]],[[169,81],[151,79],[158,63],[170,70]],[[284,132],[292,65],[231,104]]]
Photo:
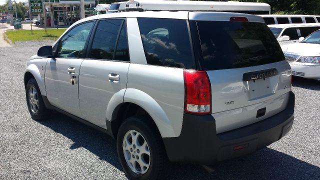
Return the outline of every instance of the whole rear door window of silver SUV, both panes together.
[[[129,60],[125,25],[119,34],[123,21],[123,19],[106,19],[99,21],[94,33],[89,58]],[[116,44],[118,35],[119,39]],[[115,47],[117,48],[115,49]]]

